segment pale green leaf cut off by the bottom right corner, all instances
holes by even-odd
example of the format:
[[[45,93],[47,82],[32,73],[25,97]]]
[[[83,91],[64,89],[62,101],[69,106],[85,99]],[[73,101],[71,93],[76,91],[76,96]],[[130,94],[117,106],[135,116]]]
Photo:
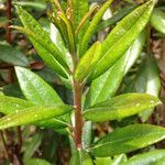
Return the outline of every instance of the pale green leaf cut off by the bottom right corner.
[[[148,153],[135,155],[122,165],[156,165],[156,163],[163,158],[165,158],[165,150],[155,150]]]

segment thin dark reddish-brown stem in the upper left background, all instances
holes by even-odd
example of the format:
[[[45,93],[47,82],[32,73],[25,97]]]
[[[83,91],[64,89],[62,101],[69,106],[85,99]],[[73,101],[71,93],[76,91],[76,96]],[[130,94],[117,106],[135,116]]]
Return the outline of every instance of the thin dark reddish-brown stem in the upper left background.
[[[7,0],[7,19],[8,19],[8,23],[7,23],[7,35],[6,38],[9,43],[12,42],[11,40],[11,0]]]

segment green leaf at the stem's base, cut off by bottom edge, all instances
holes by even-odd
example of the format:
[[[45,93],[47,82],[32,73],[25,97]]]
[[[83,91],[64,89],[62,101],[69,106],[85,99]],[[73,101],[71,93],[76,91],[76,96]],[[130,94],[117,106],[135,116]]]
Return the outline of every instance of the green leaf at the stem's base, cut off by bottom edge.
[[[70,158],[69,165],[94,165],[86,151],[77,151]]]

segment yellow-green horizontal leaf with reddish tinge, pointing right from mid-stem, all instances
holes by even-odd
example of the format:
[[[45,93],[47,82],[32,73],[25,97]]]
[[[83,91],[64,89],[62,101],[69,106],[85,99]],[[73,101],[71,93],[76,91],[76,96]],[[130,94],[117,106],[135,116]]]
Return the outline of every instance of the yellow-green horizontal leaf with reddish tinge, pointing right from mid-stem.
[[[161,101],[146,94],[125,94],[89,107],[82,113],[86,120],[118,120],[136,114],[147,108],[153,108]]]

